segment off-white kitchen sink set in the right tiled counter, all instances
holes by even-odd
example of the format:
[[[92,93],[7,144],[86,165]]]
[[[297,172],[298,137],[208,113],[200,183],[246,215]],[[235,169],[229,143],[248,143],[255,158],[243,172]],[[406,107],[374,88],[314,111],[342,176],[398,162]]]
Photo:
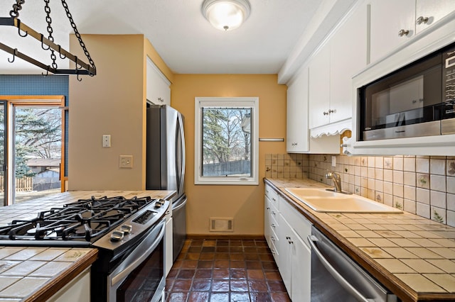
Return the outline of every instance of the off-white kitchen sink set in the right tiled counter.
[[[292,196],[316,212],[324,213],[402,213],[383,203],[358,195],[347,195],[316,188],[288,188]]]

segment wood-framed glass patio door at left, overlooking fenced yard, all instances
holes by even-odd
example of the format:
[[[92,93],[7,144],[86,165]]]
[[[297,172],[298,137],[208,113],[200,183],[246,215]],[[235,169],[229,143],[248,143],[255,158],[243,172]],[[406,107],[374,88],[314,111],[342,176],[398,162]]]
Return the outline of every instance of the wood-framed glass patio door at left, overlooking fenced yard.
[[[0,99],[0,204],[64,191],[64,97]]]

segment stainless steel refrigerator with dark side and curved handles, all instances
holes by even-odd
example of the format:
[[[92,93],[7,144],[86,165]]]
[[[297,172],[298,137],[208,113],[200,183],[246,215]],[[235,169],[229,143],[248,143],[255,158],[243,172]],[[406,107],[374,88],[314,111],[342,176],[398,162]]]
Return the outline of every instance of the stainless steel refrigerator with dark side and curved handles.
[[[175,190],[172,201],[173,262],[186,240],[183,116],[167,105],[147,105],[146,189]]]

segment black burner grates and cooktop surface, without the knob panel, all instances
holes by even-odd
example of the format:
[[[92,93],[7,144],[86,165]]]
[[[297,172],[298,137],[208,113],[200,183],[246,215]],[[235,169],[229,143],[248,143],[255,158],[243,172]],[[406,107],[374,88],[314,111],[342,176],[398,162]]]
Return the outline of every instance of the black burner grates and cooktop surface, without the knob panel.
[[[13,220],[0,228],[0,240],[79,240],[94,242],[152,203],[149,196],[80,199],[51,208],[31,220]]]

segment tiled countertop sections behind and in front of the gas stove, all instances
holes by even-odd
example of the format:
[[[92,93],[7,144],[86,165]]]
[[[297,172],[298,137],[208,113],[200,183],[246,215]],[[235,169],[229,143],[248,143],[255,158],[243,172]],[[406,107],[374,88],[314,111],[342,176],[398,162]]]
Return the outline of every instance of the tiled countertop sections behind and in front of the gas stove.
[[[91,196],[171,198],[174,194],[175,191],[70,191],[0,208],[0,227]],[[0,246],[0,301],[45,301],[96,259],[97,250],[92,248]]]

